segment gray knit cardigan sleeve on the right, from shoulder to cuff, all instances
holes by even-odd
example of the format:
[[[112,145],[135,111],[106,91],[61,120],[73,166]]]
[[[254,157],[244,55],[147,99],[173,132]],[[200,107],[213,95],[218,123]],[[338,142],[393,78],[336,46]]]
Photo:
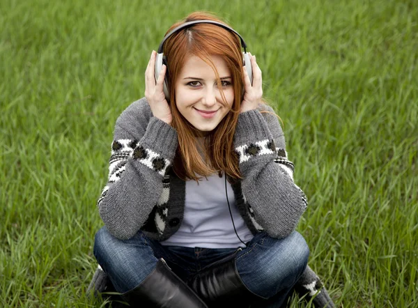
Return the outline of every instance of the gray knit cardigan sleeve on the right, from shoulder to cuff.
[[[260,105],[240,114],[234,146],[242,194],[256,222],[273,238],[288,236],[306,210],[307,198],[293,183],[293,163],[274,111]]]

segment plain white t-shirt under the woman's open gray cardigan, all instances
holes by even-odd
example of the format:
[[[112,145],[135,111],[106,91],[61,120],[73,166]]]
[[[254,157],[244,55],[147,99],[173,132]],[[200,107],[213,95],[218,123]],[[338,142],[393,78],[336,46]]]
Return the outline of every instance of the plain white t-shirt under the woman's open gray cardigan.
[[[235,229],[243,242],[254,236],[235,206],[231,184],[226,182],[229,204]],[[228,203],[226,201],[225,178],[218,174],[196,183],[186,181],[185,212],[183,222],[176,233],[161,241],[162,245],[205,248],[245,247],[233,229]]]

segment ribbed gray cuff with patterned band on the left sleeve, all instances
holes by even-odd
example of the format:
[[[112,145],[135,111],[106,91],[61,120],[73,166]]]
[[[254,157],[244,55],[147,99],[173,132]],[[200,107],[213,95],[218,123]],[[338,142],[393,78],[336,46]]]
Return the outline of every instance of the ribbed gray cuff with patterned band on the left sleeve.
[[[173,162],[178,146],[177,132],[158,118],[150,118],[144,137],[132,153],[132,159],[164,176]]]

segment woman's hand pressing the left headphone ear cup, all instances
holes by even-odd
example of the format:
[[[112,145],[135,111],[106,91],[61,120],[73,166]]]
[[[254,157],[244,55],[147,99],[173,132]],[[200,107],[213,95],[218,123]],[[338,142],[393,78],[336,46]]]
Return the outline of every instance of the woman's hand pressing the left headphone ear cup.
[[[164,91],[162,90],[164,75],[167,67],[163,64],[157,83],[155,83],[154,70],[156,55],[157,52],[153,50],[150,61],[148,62],[148,66],[145,70],[145,98],[150,105],[151,111],[153,111],[153,116],[171,125],[173,115],[171,114],[169,103],[167,102]]]

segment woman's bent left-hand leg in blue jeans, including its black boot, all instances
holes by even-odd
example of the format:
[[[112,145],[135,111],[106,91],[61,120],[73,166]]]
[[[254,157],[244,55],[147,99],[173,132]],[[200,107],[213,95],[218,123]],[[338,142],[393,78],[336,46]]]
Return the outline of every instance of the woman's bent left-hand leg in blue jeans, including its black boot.
[[[153,249],[155,246],[155,251]],[[95,236],[93,253],[116,291],[132,306],[206,307],[204,302],[155,252],[162,247],[139,231],[129,240],[111,236],[105,227]]]

